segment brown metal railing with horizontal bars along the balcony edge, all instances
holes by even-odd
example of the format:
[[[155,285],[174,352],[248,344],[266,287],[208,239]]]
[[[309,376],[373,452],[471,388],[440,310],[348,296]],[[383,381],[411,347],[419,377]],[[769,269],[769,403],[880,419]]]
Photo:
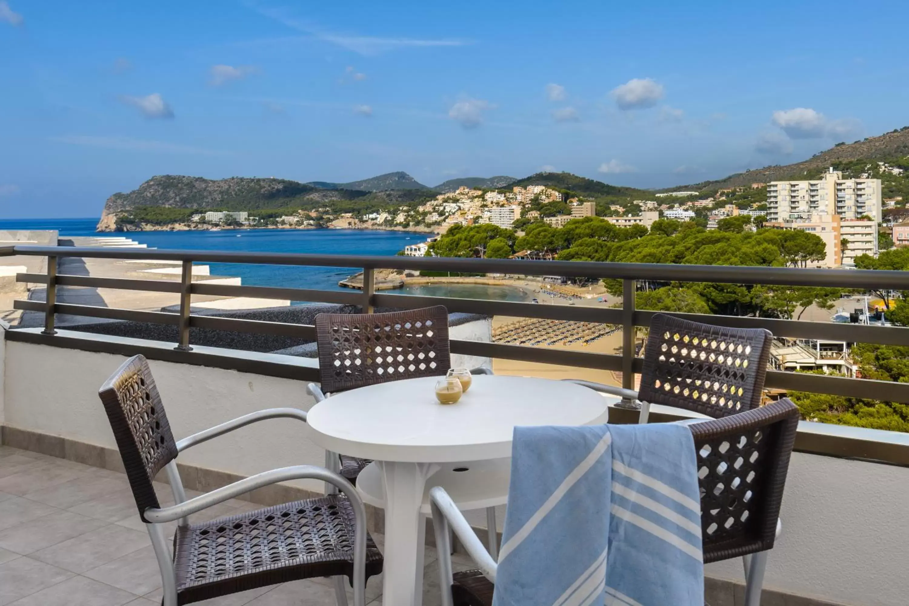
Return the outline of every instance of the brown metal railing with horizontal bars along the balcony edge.
[[[191,312],[193,295],[245,296],[264,299],[343,303],[361,306],[367,313],[374,307],[415,309],[442,304],[449,312],[507,315],[549,320],[609,323],[623,328],[621,355],[588,353],[571,350],[544,349],[526,345],[453,340],[452,353],[552,363],[582,368],[621,371],[623,387],[633,388],[634,373],[643,366],[634,356],[634,329],[650,324],[654,313],[634,308],[634,293],[639,281],[678,283],[732,283],[787,286],[837,287],[855,290],[909,290],[909,272],[801,269],[784,267],[738,267],[720,265],[681,265],[662,263],[593,263],[562,261],[523,261],[513,259],[464,259],[449,257],[357,256],[299,253],[246,253],[184,250],[144,250],[117,248],[80,248],[55,246],[11,246],[0,249],[0,255],[25,254],[46,256],[46,273],[20,273],[17,280],[24,283],[44,283],[45,302],[16,301],[15,309],[45,313],[45,329],[40,334],[19,334],[12,331],[8,339],[38,343],[60,343],[55,332],[55,314],[89,316],[140,323],[160,323],[178,328],[178,343],[168,359],[175,362],[210,364],[211,353],[195,353],[190,343],[190,329],[209,329],[239,333],[262,333],[315,340],[315,327],[305,324],[265,322],[237,318],[197,315]],[[58,274],[56,260],[61,257],[166,260],[182,263],[179,282],[104,278]],[[330,266],[362,268],[362,292],[278,288],[271,286],[242,286],[193,282],[193,263],[259,263],[301,266]],[[435,272],[504,273],[509,275],[561,275],[576,278],[617,279],[623,281],[623,306],[599,308],[573,305],[547,305],[486,301],[437,296],[375,292],[375,270],[426,270]],[[57,286],[112,288],[179,295],[179,313],[145,312],[129,309],[98,307],[73,303],[57,303]],[[765,328],[775,336],[794,339],[824,339],[847,343],[878,343],[909,346],[909,328],[868,326],[861,324],[818,323],[774,318],[675,313],[696,322],[714,323],[737,328]],[[71,340],[72,341],[72,340]],[[160,357],[160,353],[158,354]],[[232,358],[233,368],[237,368]],[[262,361],[251,361],[242,369],[277,376],[294,376],[318,380],[315,369],[296,367],[292,370],[275,368]],[[238,368],[241,370],[241,368]],[[873,381],[818,374],[768,371],[766,386],[784,390],[829,393],[834,395],[873,398],[888,402],[909,402],[909,383]]]

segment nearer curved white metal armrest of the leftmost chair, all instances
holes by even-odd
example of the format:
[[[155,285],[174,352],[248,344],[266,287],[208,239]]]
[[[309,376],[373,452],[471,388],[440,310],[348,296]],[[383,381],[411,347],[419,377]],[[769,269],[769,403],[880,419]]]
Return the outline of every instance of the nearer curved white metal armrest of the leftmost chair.
[[[354,485],[337,473],[329,472],[325,468],[315,465],[295,465],[282,467],[269,472],[257,473],[254,476],[234,482],[223,488],[195,497],[164,509],[150,507],[143,512],[143,518],[148,522],[162,523],[173,522],[180,518],[201,512],[219,502],[225,502],[245,492],[254,491],[269,484],[312,478],[323,482],[330,482],[345,493],[347,500],[354,508],[354,603],[365,604],[366,585],[366,508],[363,500],[356,492]]]

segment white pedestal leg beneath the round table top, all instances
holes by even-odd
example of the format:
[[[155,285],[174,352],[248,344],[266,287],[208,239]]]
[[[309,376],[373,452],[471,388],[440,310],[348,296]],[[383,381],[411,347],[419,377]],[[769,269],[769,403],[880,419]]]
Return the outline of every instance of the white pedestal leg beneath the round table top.
[[[425,518],[420,514],[426,480],[437,463],[376,462],[385,484],[385,564],[382,601],[420,606],[423,601]]]

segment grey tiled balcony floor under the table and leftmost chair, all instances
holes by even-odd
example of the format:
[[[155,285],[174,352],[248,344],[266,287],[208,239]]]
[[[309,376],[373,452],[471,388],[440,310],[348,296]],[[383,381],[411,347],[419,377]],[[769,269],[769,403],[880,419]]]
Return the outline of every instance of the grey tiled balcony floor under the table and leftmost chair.
[[[173,503],[169,486],[155,488],[163,505]],[[233,500],[192,519],[260,507]],[[384,537],[374,538],[381,548]],[[455,570],[470,568],[464,558],[454,560]],[[381,591],[381,575],[370,579],[367,603],[381,604]],[[0,446],[0,606],[160,603],[161,576],[125,474]],[[330,580],[315,579],[198,603],[327,606],[335,604],[335,591]],[[426,549],[423,603],[439,603],[432,548]]]

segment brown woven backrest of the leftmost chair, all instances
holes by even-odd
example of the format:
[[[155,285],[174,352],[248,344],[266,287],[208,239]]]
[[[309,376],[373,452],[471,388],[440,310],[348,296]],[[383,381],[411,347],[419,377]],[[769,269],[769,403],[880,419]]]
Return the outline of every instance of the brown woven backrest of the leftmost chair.
[[[98,395],[114,430],[139,515],[147,522],[143,512],[160,507],[152,482],[176,458],[177,450],[145,356],[134,355],[123,363]]]

